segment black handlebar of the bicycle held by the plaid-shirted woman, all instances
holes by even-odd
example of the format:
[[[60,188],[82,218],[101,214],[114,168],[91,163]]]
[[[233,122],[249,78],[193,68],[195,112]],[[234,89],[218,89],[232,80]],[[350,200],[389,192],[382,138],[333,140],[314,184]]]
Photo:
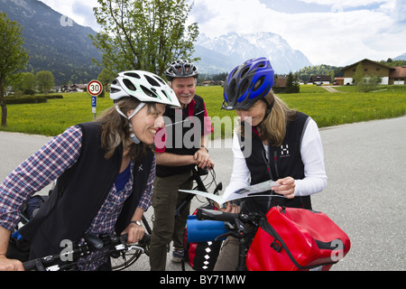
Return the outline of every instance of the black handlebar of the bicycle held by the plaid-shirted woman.
[[[145,244],[149,242],[150,236],[145,234],[143,239],[137,245],[127,245],[127,235],[99,237],[86,235],[85,242],[68,247],[62,250],[60,254],[43,256],[23,262],[25,271],[75,271],[78,269],[78,260],[88,256],[96,251],[106,250],[106,254],[113,258],[119,258],[130,251],[139,252],[140,255],[145,252]],[[67,261],[68,260],[68,261]],[[94,262],[89,260],[88,262]],[[86,263],[85,263],[86,264]]]

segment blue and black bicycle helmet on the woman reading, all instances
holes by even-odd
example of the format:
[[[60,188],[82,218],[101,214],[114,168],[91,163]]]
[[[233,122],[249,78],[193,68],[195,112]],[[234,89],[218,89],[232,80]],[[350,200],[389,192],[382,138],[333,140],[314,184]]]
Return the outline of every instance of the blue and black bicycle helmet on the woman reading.
[[[247,109],[264,98],[274,85],[274,71],[266,58],[252,59],[227,76],[222,109]]]

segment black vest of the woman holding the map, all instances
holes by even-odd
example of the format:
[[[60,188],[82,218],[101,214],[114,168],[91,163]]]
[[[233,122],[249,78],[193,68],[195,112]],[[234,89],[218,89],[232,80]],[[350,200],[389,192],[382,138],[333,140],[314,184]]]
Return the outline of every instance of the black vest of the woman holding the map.
[[[300,180],[305,177],[304,164],[301,161],[300,155],[300,144],[308,121],[308,116],[298,112],[297,117],[293,121],[288,122],[286,135],[281,146],[268,145],[270,160],[266,158],[263,142],[254,132],[254,128],[251,135],[241,138],[241,145],[249,141],[249,138],[252,140],[252,153],[245,157],[245,162],[251,172],[251,184],[269,180],[276,181],[288,176],[291,176],[295,180]],[[244,150],[245,148],[243,147],[242,149]],[[271,191],[267,193],[271,193]],[[310,197],[306,196],[295,197],[291,200],[279,197],[255,197],[245,200],[242,204],[242,210],[245,211],[245,213],[249,211],[262,211],[266,213],[272,206],[277,205],[311,209]]]

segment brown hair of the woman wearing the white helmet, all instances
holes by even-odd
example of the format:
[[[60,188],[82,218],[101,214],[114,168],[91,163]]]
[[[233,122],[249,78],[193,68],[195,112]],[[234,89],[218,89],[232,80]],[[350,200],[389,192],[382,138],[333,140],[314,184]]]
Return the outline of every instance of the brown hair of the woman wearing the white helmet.
[[[123,98],[117,105],[120,110],[127,115],[127,112],[138,107],[140,101],[136,98]],[[151,111],[151,107],[155,107],[155,104],[147,104],[148,111]],[[131,141],[131,132],[129,121],[125,117],[118,114],[115,107],[107,108],[100,117],[97,117],[97,122],[102,126],[101,145],[106,151],[106,160],[113,157],[115,149],[120,145],[130,144],[129,147],[124,149],[130,149],[130,157],[133,161],[137,161],[146,154],[148,150],[153,150],[153,144],[134,144]]]

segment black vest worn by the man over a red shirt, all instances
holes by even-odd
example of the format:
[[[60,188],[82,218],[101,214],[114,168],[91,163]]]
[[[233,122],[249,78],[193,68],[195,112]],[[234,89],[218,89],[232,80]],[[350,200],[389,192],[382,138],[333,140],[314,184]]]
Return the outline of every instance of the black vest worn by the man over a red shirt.
[[[195,100],[194,109],[189,104],[181,110],[171,108],[165,110],[163,116],[170,119],[170,123],[165,123],[167,131],[165,153],[193,155],[200,148],[201,135],[203,135],[205,124],[205,104],[203,98],[200,98],[198,95],[195,95],[193,99]],[[187,173],[194,166],[194,164],[176,167],[157,165],[156,175],[168,177],[175,174]]]

